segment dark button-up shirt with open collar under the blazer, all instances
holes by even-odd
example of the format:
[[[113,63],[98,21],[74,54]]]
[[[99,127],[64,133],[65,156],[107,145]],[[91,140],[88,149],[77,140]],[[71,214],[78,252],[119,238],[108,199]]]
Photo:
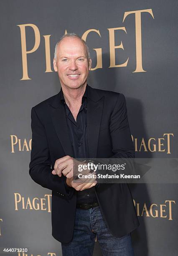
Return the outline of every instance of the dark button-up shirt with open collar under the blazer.
[[[66,120],[69,131],[69,137],[73,149],[74,158],[89,158],[88,137],[87,137],[87,85],[82,97],[82,104],[76,121],[64,100],[61,88],[61,103],[65,106]],[[66,189],[70,189],[66,184]],[[77,191],[77,204],[97,202],[94,187]]]

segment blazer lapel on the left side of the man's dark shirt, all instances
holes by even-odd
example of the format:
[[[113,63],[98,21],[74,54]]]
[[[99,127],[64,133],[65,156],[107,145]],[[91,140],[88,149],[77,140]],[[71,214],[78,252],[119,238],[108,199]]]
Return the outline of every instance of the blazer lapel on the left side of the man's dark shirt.
[[[73,157],[73,150],[71,146],[71,141],[69,138],[66,114],[64,106],[60,102],[60,92],[56,95],[56,98],[49,104],[49,109],[51,111],[51,118],[57,136],[61,142],[66,156]]]

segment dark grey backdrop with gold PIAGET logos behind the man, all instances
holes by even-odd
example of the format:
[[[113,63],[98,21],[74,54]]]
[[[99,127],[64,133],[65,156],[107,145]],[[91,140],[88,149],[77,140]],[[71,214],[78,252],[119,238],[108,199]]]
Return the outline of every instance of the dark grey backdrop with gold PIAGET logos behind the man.
[[[88,84],[125,95],[136,157],[174,158],[170,171],[178,172],[177,7],[175,0],[0,1],[0,248],[22,248],[5,255],[62,255],[51,236],[51,190],[33,182],[28,165],[31,108],[61,89],[52,63],[64,33],[89,46]],[[140,221],[136,256],[178,255],[177,188],[130,184]]]

